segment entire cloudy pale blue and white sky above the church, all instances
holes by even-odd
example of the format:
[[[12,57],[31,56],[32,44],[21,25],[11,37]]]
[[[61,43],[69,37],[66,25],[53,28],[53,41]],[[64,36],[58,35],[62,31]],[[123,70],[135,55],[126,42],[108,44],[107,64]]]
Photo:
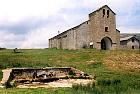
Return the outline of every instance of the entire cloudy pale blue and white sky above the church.
[[[0,47],[47,48],[48,39],[108,5],[121,33],[140,33],[140,0],[0,0]]]

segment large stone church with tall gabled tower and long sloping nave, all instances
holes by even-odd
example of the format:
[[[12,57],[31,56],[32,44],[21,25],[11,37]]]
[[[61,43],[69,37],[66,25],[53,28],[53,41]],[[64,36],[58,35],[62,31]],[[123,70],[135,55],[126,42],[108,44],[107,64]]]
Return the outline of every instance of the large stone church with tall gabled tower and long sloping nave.
[[[89,20],[49,39],[49,48],[96,48],[115,50],[120,47],[116,14],[107,6],[89,14]]]

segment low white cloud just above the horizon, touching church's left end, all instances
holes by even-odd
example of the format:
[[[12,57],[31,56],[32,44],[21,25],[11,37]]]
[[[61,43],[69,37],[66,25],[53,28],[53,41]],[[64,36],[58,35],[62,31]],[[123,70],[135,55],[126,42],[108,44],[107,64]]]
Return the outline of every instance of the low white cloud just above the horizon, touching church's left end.
[[[36,31],[31,31],[27,34],[21,48],[42,48],[47,47],[49,33],[46,28],[41,28]]]

